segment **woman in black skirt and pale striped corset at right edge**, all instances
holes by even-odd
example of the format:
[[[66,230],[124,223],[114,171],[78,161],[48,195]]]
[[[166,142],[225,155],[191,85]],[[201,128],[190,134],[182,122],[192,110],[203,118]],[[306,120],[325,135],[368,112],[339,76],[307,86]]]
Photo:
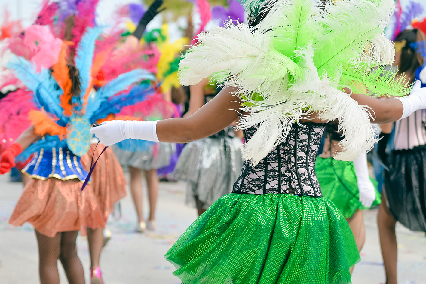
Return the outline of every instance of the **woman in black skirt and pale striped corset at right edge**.
[[[394,66],[401,80],[412,83],[416,70],[423,68],[426,37],[420,29],[407,29],[397,35]],[[422,54],[424,53],[424,55]],[[419,72],[420,73],[420,72]],[[426,82],[424,82],[426,83]],[[397,284],[397,239],[395,224],[426,232],[426,122],[424,110],[400,119],[394,124],[394,149],[384,153],[392,125],[383,125],[379,141],[380,156],[386,157],[384,192],[377,215],[380,247],[385,266],[386,284]],[[388,131],[385,131],[388,128]]]

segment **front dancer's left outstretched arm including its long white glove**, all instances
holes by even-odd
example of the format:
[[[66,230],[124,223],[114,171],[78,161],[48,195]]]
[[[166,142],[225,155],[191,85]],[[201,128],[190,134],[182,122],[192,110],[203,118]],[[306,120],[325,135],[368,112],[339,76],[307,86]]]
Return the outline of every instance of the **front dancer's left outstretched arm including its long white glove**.
[[[241,101],[234,89],[222,89],[216,97],[187,118],[160,121],[112,120],[93,127],[91,132],[108,146],[124,139],[188,143],[208,137],[233,123],[240,115]]]

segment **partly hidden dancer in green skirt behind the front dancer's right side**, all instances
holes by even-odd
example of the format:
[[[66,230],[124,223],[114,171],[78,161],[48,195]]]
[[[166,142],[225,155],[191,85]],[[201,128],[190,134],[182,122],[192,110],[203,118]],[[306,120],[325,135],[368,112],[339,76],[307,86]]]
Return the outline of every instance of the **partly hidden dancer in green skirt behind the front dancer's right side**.
[[[327,124],[325,135],[322,153],[315,162],[322,196],[333,202],[348,221],[358,251],[361,252],[366,239],[362,210],[380,204],[380,193],[368,175],[366,153],[362,153],[353,162],[337,161],[333,158],[342,150],[339,141],[344,138],[337,131],[337,122]],[[353,267],[351,273],[352,271]]]

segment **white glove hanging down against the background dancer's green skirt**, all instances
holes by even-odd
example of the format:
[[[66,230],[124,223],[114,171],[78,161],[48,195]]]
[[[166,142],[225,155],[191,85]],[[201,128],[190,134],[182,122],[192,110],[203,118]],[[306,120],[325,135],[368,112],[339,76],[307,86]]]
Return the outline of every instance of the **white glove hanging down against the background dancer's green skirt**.
[[[360,192],[360,202],[365,207],[371,207],[376,199],[376,189],[371,183],[368,175],[367,154],[361,154],[354,161],[355,175],[357,175],[358,190]]]

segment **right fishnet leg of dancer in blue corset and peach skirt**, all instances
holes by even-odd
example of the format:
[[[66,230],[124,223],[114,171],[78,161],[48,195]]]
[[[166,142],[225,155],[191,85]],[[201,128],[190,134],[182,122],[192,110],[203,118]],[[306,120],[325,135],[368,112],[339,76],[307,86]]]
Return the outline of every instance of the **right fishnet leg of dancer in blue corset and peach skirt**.
[[[84,284],[84,270],[77,255],[75,240],[78,231],[62,232],[59,259],[69,284]]]

